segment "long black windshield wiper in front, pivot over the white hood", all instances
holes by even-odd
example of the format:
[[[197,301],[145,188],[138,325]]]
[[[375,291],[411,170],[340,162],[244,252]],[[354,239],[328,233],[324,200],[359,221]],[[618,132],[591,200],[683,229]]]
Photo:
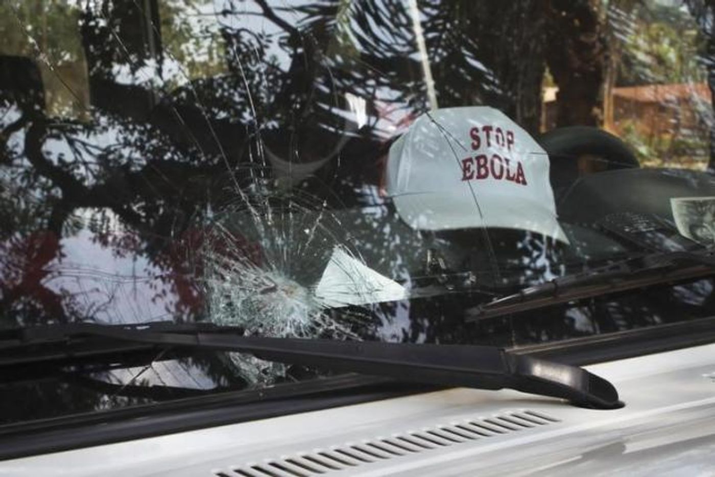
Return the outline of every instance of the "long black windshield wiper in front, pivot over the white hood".
[[[0,369],[73,356],[73,343],[94,338],[154,347],[247,352],[263,360],[391,377],[400,381],[498,390],[510,388],[561,397],[574,405],[616,409],[623,403],[610,382],[570,365],[513,355],[498,347],[456,344],[342,342],[325,339],[244,337],[197,327],[157,332],[139,325],[70,324],[15,331],[0,341]],[[50,352],[43,348],[51,345]],[[63,351],[64,348],[64,351]],[[94,350],[97,357],[97,350]]]

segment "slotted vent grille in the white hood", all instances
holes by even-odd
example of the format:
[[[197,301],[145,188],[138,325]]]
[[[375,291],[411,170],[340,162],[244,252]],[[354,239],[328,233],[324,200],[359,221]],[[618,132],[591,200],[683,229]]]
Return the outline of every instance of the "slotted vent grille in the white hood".
[[[298,453],[263,463],[248,463],[230,470],[214,471],[215,477],[314,477],[364,464],[422,453],[448,445],[472,442],[558,422],[544,413],[520,410],[490,418],[464,420],[423,430],[410,430],[389,438],[347,443],[327,450]]]

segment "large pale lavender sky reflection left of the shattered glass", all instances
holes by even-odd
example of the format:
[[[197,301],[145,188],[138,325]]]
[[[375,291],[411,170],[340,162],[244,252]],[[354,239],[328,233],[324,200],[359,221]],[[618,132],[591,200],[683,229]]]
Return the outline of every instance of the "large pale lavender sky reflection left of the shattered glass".
[[[56,292],[72,295],[82,314],[97,321],[135,323],[171,319],[177,297],[171,290],[159,296],[162,271],[146,257],[127,253],[117,256],[112,247],[92,241],[94,234],[86,229],[76,236],[63,238],[64,254],[52,262],[56,271],[46,286]]]

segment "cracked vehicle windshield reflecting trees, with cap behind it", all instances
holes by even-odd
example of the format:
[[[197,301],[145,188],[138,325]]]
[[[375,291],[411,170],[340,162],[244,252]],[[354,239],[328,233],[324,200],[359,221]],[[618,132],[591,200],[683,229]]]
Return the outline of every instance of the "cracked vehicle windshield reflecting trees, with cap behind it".
[[[714,244],[706,1],[0,13],[0,327],[513,347],[712,313],[706,278],[468,320],[526,286]],[[320,374],[236,353],[63,372],[89,408],[142,402],[137,385]]]

